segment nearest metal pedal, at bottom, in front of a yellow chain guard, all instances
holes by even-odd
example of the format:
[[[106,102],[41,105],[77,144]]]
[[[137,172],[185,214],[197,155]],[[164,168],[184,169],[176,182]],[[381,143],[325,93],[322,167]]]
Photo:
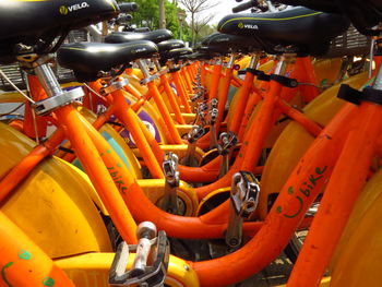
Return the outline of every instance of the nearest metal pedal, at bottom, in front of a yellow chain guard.
[[[111,287],[163,286],[168,267],[169,243],[164,230],[156,231],[151,222],[141,223],[136,228],[139,243],[128,246],[124,241],[118,246],[109,271]],[[129,251],[136,251],[132,268],[126,272]],[[152,262],[151,265],[147,262]]]

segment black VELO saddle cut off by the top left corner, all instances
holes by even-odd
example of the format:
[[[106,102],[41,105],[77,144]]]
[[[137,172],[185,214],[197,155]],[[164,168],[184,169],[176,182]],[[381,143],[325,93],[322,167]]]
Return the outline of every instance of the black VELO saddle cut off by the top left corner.
[[[114,0],[0,1],[0,63],[12,62],[23,44],[44,52],[57,36],[117,16]]]

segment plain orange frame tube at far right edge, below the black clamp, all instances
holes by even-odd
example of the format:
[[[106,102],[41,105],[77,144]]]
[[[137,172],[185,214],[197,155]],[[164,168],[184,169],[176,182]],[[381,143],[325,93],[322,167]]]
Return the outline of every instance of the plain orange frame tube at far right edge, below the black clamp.
[[[381,96],[382,69],[373,85]],[[347,104],[351,105],[351,104]],[[362,190],[382,131],[382,106],[360,103],[287,286],[318,286]],[[351,180],[349,180],[351,179]],[[327,232],[331,230],[331,232]],[[314,264],[311,261],[314,261]],[[309,276],[307,276],[309,272]]]

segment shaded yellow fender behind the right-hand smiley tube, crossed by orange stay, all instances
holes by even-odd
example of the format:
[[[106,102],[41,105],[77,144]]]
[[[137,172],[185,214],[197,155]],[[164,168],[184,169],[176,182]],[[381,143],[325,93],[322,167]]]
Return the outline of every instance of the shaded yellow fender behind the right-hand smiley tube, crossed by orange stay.
[[[353,76],[344,83],[360,88],[368,81],[367,74]],[[332,117],[344,105],[336,97],[339,84],[335,85],[312,100],[303,109],[305,115],[325,127]],[[278,136],[266,160],[262,179],[256,215],[264,219],[267,214],[267,200],[272,193],[278,193],[300,157],[308,150],[314,137],[301,125],[290,122]]]

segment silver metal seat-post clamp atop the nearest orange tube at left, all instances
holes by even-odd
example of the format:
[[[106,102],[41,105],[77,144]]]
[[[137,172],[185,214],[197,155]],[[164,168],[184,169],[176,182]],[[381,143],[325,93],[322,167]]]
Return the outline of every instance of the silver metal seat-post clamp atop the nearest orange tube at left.
[[[83,96],[84,92],[82,87],[79,86],[70,91],[62,91],[62,94],[58,94],[39,101],[35,101],[32,105],[32,107],[35,109],[36,115],[43,116],[49,113],[50,111],[59,107],[69,105]]]

